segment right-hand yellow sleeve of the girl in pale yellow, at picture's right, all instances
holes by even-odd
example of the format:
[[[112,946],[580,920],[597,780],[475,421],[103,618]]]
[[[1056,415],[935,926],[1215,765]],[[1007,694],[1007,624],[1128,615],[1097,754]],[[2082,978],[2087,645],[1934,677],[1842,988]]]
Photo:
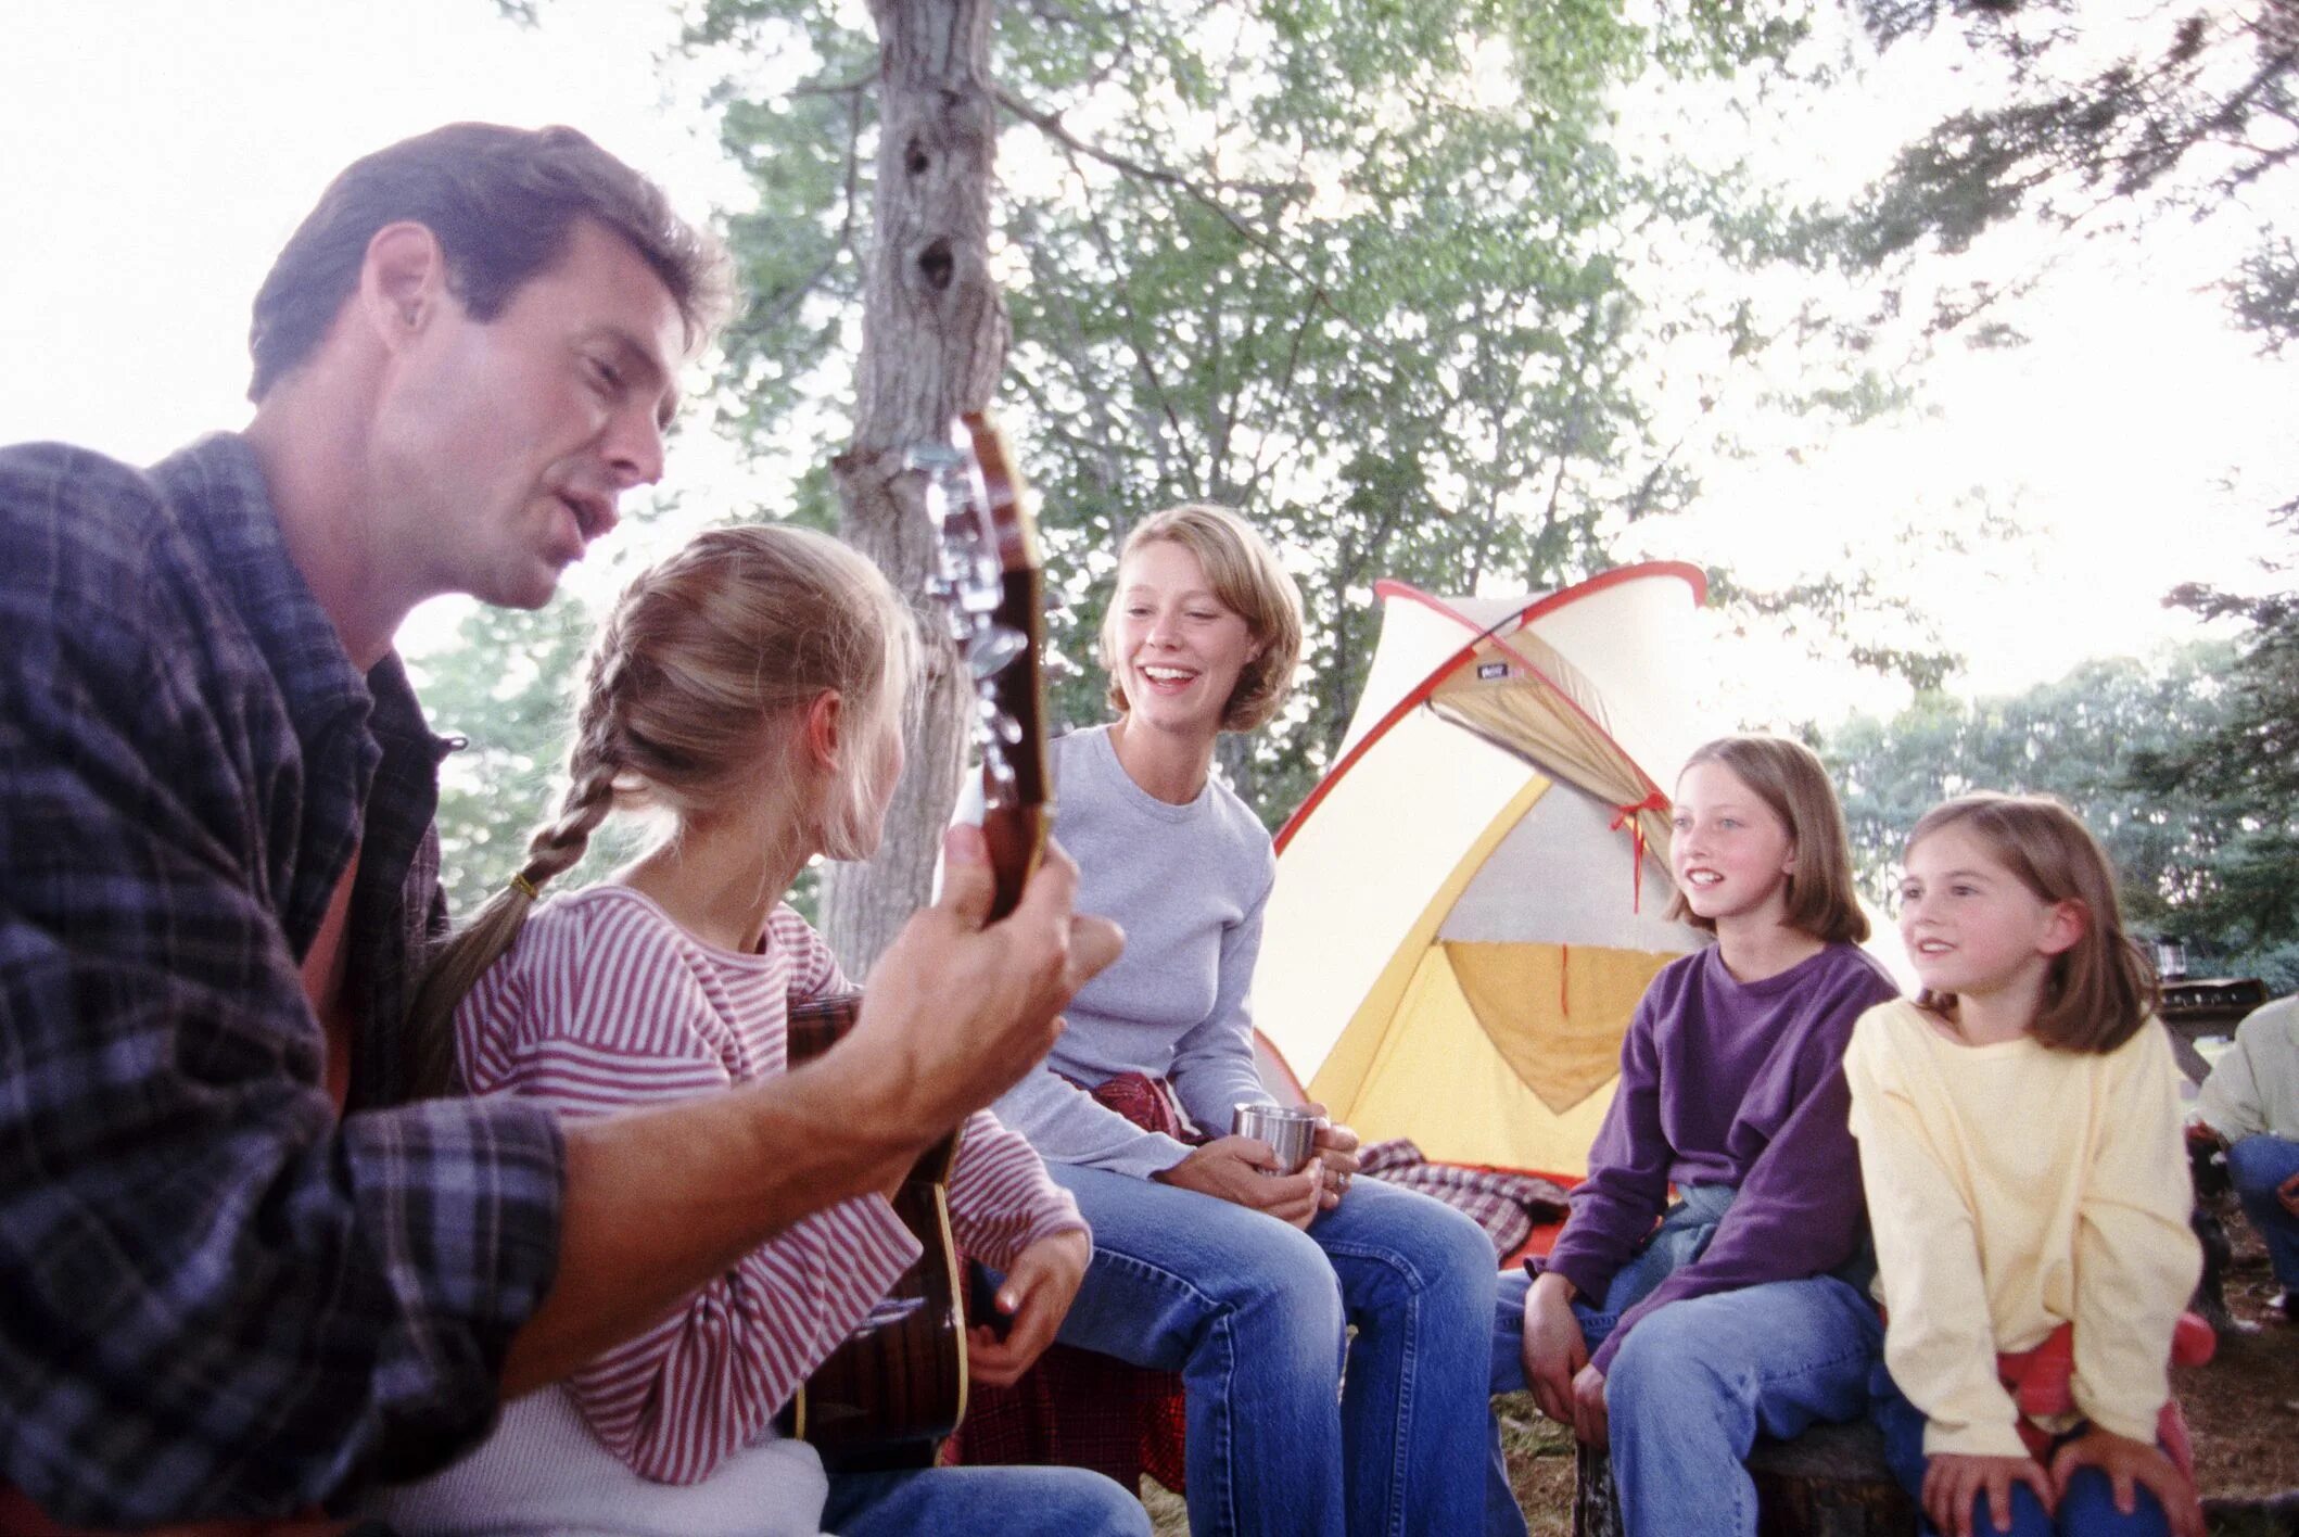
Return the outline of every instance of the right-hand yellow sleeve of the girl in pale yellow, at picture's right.
[[[2186,1225],[2193,1188],[2179,1135],[2177,1064],[2163,1027],[2099,1064],[2108,1078],[2101,1137],[2076,1206],[2076,1408],[2092,1424],[2154,1445],[2170,1397],[2170,1335],[2202,1273]]]

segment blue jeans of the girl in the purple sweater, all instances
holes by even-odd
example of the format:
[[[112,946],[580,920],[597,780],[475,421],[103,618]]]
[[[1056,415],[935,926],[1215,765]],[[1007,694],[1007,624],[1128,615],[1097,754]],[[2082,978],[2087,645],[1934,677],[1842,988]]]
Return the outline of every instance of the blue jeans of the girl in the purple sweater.
[[[1573,1303],[1593,1353],[1621,1314],[1715,1236],[1731,1192],[1685,1190],[1653,1238],[1614,1273],[1598,1305]],[[1492,1316],[1492,1390],[1522,1392],[1524,1293],[1504,1275]],[[1612,1482],[1630,1537],[1752,1537],[1756,1484],[1743,1461],[1756,1436],[1786,1441],[1814,1420],[1858,1420],[1869,1367],[1883,1349],[1876,1305],[1835,1275],[1768,1282],[1669,1303],[1646,1314],[1605,1376]],[[1520,1537],[1494,1438],[1485,1532]]]

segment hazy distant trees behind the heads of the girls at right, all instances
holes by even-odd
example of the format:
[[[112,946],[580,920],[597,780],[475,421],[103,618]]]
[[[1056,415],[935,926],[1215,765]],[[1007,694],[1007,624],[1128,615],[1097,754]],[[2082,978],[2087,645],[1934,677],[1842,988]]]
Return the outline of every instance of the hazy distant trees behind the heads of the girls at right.
[[[2161,666],[2085,662],[2007,698],[1924,694],[1890,721],[1846,721],[1823,758],[1862,885],[1890,891],[1915,820],[1950,795],[2058,795],[2115,859],[2131,928],[2189,940],[2196,965],[2278,990],[2299,983],[2299,820],[2285,811],[2299,783],[2276,795],[2193,763],[2198,742],[2244,717],[2244,698],[2221,682],[2232,662],[2235,646],[2209,641]],[[2285,781],[2299,770],[2285,767]],[[2283,852],[2267,857],[2271,848]]]

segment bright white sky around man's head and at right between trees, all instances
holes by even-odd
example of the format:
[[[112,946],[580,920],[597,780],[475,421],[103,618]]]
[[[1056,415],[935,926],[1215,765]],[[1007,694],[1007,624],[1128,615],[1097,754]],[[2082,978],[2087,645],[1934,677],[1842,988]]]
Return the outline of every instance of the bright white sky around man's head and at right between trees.
[[[520,30],[490,0],[9,5],[0,441],[154,459],[244,423],[246,312],[271,255],[338,168],[405,133],[455,117],[570,122],[683,209],[736,195],[699,92],[655,67],[676,25],[667,5],[543,11],[540,30]],[[1894,108],[1920,117],[1931,103],[1878,113]],[[2285,209],[2283,225],[2294,221]],[[2081,255],[2051,306],[2019,312],[2030,347],[1943,356],[1931,416],[1841,434],[1802,464],[1766,455],[1710,476],[1690,522],[1639,531],[1641,554],[1715,551],[1750,581],[1786,579],[1798,561],[1874,551],[1894,522],[1945,517],[1984,487],[2032,538],[1885,561],[1973,655],[1961,689],[2023,687],[2085,655],[2191,634],[2159,607],[2163,588],[2255,584],[2251,561],[2274,549],[2260,508],[2299,489],[2299,374],[2225,329],[2200,292],[2225,269],[2209,234],[2166,232],[2145,260],[2124,246]],[[731,473],[699,437],[664,487],[690,505]],[[1752,721],[1892,703],[1807,669],[1793,646],[1736,648],[1724,671],[1710,698]]]

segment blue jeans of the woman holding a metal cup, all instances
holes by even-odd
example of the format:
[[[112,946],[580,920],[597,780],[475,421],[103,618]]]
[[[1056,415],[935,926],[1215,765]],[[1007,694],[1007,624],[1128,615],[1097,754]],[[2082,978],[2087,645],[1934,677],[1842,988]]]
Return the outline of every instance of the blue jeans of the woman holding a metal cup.
[[[1476,1222],[1359,1179],[1304,1234],[1193,1190],[1048,1169],[1094,1225],[1060,1339],[1182,1374],[1195,1537],[1478,1528],[1494,1266]]]

